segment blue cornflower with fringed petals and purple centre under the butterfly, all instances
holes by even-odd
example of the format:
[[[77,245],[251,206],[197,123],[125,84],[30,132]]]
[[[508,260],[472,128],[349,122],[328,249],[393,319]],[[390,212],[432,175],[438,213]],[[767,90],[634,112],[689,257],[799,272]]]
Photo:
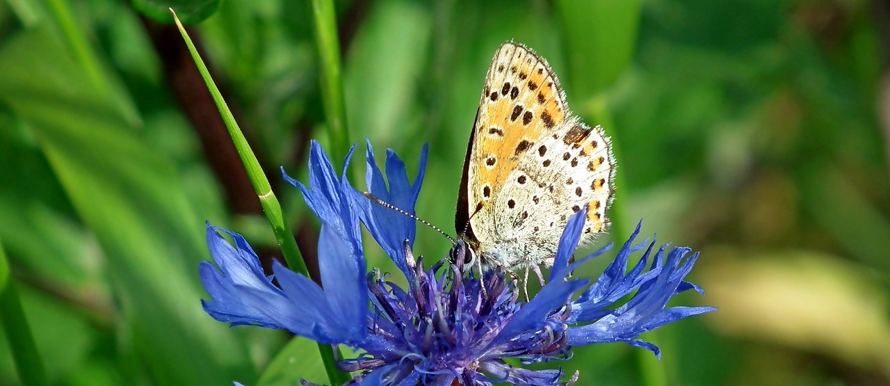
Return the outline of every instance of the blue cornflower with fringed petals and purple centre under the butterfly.
[[[413,183],[401,159],[388,151],[387,187],[368,143],[368,191],[414,213],[426,150],[421,153],[420,172]],[[349,164],[351,156],[352,151],[344,165]],[[319,264],[324,289],[277,261],[272,271],[280,287],[272,285],[244,237],[208,224],[207,244],[219,269],[208,261],[201,263],[201,279],[213,298],[202,303],[213,318],[232,326],[285,328],[316,342],[363,350],[358,358],[339,362],[344,371],[356,373],[353,382],[571,383],[578,374],[563,381],[559,370],[529,370],[511,366],[504,359],[519,358],[529,364],[568,358],[573,346],[600,342],[627,342],[658,356],[658,347],[638,339],[640,334],[715,310],[665,308],[674,294],[689,289],[703,293],[699,286],[683,280],[698,253],[687,256],[691,250],[684,247],[667,251],[667,245],[652,253],[654,240],[634,242],[639,225],[593,285],[588,286],[586,278],[569,278],[580,264],[611,247],[570,261],[586,210],[569,221],[549,281],[529,302],[520,300],[517,285],[503,270],[488,271],[483,280],[465,274],[471,269],[463,265],[467,251],[461,242],[455,247],[454,264],[438,261],[425,269],[423,259],[412,252],[415,221],[371,203],[353,189],[346,181],[345,167],[337,176],[317,142],[312,142],[309,167],[308,187],[287,174],[285,178],[303,192],[306,203],[322,222]],[[388,281],[387,275],[377,269],[367,273],[360,223],[407,277],[407,288]],[[230,235],[235,245],[220,232]],[[630,255],[643,248],[643,257],[628,271]],[[627,302],[616,304],[627,295],[631,295]]]

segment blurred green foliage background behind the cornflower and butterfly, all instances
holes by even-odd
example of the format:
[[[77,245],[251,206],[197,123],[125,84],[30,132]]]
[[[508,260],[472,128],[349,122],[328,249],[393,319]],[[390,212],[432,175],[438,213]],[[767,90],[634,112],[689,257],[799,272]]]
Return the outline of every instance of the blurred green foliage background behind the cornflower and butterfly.
[[[305,181],[310,139],[345,149],[328,141],[308,2],[170,3],[197,22],[312,257],[317,221],[278,168]],[[266,263],[279,254],[182,38],[138,11],[158,9],[0,2],[0,243],[49,382],[327,382],[312,342],[200,308],[205,220]],[[580,385],[890,384],[886,1],[354,0],[336,13],[357,185],[365,137],[412,174],[429,142],[417,214],[451,230],[482,79],[513,39],[617,145],[615,226],[597,245],[644,219],[643,235],[701,251],[692,281],[708,295],[676,303],[719,310],[646,335],[660,362],[603,344],[546,366],[580,370]],[[417,253],[448,246],[418,233]],[[0,384],[14,385],[8,339]]]

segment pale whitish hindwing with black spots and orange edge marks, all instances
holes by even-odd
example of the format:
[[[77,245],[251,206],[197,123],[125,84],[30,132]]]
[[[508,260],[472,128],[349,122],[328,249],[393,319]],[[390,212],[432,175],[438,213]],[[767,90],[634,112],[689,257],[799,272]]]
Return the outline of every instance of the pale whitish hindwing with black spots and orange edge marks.
[[[497,225],[502,239],[515,241],[514,246],[501,246],[519,256],[513,264],[551,265],[562,229],[585,205],[589,210],[580,244],[607,229],[605,210],[614,193],[614,170],[611,144],[603,129],[591,129],[577,117],[536,142],[493,202],[494,212],[502,213]]]

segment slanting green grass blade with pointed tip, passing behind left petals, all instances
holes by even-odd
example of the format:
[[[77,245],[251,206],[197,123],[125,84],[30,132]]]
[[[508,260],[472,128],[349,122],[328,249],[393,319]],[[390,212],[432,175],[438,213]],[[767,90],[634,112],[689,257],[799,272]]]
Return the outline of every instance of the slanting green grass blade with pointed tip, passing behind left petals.
[[[214,80],[210,76],[210,72],[207,70],[204,60],[198,55],[195,45],[191,42],[188,32],[182,27],[182,23],[179,21],[179,18],[176,17],[176,13],[173,9],[170,9],[170,12],[173,13],[176,27],[179,28],[179,31],[182,34],[182,39],[185,40],[185,44],[189,46],[191,57],[195,60],[195,65],[198,66],[198,72],[201,73],[201,77],[204,78],[207,90],[214,98],[216,108],[219,109],[220,114],[223,116],[223,122],[229,130],[231,141],[235,144],[235,148],[238,149],[239,157],[241,157],[241,162],[244,164],[247,176],[249,177],[251,184],[254,186],[256,195],[260,197],[260,205],[263,206],[263,213],[266,214],[266,218],[271,224],[272,231],[275,233],[275,238],[278,239],[279,247],[281,248],[281,253],[284,255],[285,261],[287,261],[287,266],[295,272],[301,273],[305,277],[309,277],[306,264],[303,262],[300,251],[296,246],[294,233],[290,231],[287,222],[284,221],[284,213],[281,210],[281,205],[279,204],[278,198],[275,197],[275,193],[272,192],[269,180],[266,179],[263,169],[260,167],[260,162],[256,159],[254,151],[250,149],[250,145],[247,143],[244,133],[241,133],[238,123],[235,122],[235,117],[231,115],[229,106],[223,100],[223,94],[216,88],[216,84],[214,84]],[[318,346],[321,360],[325,364],[325,370],[328,372],[330,382],[334,384],[348,382],[350,380],[349,374],[344,374],[336,368],[336,359],[333,348],[328,344],[321,343],[318,343]],[[339,353],[337,353],[337,357],[339,357]]]

